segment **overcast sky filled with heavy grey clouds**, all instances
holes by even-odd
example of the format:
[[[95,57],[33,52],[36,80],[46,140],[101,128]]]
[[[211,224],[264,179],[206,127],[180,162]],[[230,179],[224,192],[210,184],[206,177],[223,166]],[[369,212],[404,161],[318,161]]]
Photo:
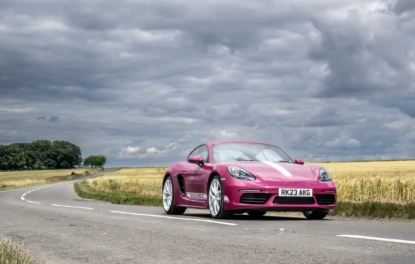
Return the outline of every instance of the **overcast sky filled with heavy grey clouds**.
[[[108,166],[200,142],[305,161],[415,158],[414,0],[2,0],[0,144]]]

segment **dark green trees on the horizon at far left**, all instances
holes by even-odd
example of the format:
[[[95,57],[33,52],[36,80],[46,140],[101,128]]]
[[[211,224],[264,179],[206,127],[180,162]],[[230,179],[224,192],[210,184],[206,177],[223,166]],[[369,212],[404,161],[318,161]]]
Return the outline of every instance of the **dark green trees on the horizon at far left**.
[[[82,161],[81,148],[63,140],[0,145],[0,170],[69,169],[81,166]],[[100,167],[104,164],[101,157]]]

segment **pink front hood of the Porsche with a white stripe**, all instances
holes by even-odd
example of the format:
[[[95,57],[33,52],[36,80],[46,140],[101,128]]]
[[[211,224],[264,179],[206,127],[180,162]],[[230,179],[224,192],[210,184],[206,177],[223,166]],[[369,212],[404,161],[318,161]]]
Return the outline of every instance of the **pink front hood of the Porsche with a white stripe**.
[[[271,161],[239,161],[232,164],[263,179],[270,180],[314,180],[311,168],[304,164]]]

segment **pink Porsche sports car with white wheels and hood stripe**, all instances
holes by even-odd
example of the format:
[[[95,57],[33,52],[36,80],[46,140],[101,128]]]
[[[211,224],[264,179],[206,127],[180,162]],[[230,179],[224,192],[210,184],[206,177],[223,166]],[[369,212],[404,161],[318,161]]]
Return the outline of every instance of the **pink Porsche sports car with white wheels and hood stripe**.
[[[322,219],[336,207],[336,186],[321,166],[293,161],[277,146],[251,141],[208,141],[163,178],[167,214],[209,209],[215,219],[267,211],[303,212]]]

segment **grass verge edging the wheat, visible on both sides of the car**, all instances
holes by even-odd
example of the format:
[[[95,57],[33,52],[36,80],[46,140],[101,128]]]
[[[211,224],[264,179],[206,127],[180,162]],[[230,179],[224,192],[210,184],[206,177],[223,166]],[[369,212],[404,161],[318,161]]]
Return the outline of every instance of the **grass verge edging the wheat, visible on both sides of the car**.
[[[90,186],[86,180],[76,182],[75,191],[82,198],[101,200],[112,204],[163,206],[163,200],[159,195],[100,190]],[[412,220],[415,219],[415,203],[398,204],[392,202],[338,201],[336,209],[331,211],[329,216],[340,218]]]

